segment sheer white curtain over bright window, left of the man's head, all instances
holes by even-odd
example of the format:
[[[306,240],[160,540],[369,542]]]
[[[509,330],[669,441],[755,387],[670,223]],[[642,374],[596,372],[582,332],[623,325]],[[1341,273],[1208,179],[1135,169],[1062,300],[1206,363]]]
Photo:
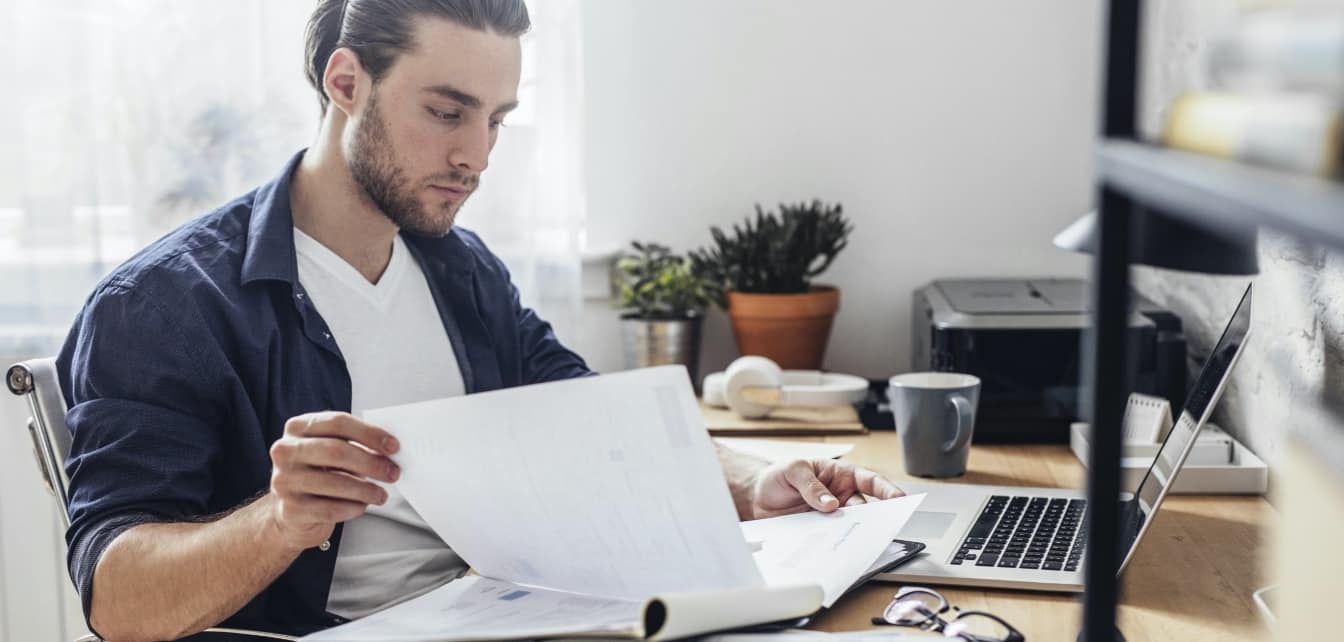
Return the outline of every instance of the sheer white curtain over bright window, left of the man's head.
[[[0,3],[0,352],[55,351],[101,275],[308,144],[310,7]]]

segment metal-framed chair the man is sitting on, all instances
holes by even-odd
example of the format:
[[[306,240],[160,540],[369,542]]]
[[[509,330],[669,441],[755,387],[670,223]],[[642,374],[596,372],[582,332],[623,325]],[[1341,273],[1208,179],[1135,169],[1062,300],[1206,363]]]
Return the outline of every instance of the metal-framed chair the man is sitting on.
[[[9,367],[5,377],[9,392],[28,399],[28,437],[32,438],[32,454],[47,490],[56,498],[60,508],[60,522],[70,528],[67,504],[70,477],[66,475],[66,455],[70,454],[70,427],[66,426],[66,400],[56,379],[55,359],[32,359]],[[258,639],[289,639],[293,635],[278,633],[250,631],[245,629],[206,629],[206,634],[247,637]],[[207,639],[211,635],[207,635]],[[83,635],[75,642],[102,642],[97,635]]]

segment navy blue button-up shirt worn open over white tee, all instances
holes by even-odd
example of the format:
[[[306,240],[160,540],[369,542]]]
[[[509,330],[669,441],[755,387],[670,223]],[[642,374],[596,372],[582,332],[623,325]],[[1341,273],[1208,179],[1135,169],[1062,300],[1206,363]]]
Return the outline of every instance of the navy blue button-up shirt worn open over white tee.
[[[258,497],[289,418],[349,411],[340,347],[294,262],[289,184],[301,157],[116,269],[60,351],[73,432],[66,540],[86,615],[94,568],[114,537],[137,524],[211,518]],[[508,270],[474,234],[403,238],[468,394],[590,373],[519,302]],[[327,549],[301,553],[223,626],[306,634],[343,622],[325,608],[340,535],[337,526]]]

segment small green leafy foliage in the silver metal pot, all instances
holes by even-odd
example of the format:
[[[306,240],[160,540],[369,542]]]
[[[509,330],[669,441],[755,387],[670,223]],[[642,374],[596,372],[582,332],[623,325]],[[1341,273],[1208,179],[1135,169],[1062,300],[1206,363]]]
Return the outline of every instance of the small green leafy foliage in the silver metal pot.
[[[638,318],[692,318],[714,302],[691,261],[657,243],[630,243],[636,254],[616,261],[617,306]]]

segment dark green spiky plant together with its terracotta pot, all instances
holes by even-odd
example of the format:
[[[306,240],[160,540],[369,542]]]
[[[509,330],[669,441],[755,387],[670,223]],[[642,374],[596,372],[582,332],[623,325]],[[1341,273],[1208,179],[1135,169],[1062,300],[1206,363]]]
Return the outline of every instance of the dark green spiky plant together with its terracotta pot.
[[[820,200],[755,205],[755,219],[714,227],[714,243],[691,253],[692,269],[708,283],[732,321],[742,355],[762,355],[782,368],[818,369],[840,310],[840,290],[814,285],[848,243],[853,227],[840,204]]]

